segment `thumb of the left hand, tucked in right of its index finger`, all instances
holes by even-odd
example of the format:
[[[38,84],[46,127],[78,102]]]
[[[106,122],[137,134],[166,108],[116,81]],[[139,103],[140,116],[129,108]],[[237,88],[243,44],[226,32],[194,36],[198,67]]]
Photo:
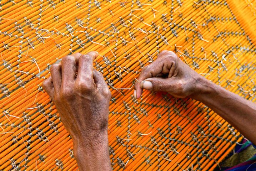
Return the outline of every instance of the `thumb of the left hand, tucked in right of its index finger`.
[[[103,75],[99,71],[96,71],[96,69],[93,70],[93,79],[94,79],[96,88],[99,89],[101,93],[107,94],[110,92],[109,87],[107,86],[107,83],[105,82]]]

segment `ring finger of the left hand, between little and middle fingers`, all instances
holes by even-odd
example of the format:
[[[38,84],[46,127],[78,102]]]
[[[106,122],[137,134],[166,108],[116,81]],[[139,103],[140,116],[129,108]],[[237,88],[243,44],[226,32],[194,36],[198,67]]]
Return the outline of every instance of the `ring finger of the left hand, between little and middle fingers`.
[[[54,91],[59,92],[61,87],[61,64],[53,64],[50,68]]]

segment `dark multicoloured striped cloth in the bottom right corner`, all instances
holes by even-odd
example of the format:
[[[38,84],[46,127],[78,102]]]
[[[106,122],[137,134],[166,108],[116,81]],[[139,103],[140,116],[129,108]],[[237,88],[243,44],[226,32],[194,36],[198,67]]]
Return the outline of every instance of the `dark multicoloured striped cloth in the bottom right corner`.
[[[221,168],[221,169],[220,169]],[[256,171],[256,146],[243,139],[215,171]]]

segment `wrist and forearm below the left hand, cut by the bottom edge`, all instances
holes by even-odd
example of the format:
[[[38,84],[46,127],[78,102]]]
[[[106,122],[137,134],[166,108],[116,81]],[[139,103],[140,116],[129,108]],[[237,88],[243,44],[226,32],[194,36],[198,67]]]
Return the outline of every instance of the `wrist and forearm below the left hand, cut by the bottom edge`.
[[[74,156],[80,171],[112,171],[107,134],[76,140]]]

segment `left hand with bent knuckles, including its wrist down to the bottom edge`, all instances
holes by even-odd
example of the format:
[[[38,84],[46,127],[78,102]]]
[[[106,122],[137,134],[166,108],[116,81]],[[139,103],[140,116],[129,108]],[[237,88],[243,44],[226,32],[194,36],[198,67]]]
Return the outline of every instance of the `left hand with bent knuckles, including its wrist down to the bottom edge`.
[[[42,84],[73,139],[80,170],[102,170],[106,162],[104,170],[111,170],[107,139],[111,93],[92,66],[97,56],[97,52],[65,56],[51,66],[51,76]],[[93,166],[97,161],[98,166]]]

